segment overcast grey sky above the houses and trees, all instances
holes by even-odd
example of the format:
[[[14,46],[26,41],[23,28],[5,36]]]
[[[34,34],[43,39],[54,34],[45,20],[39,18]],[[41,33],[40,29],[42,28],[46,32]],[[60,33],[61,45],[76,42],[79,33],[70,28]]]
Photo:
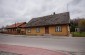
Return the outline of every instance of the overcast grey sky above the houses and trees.
[[[71,19],[85,17],[85,0],[0,0],[0,27],[67,12],[67,4]]]

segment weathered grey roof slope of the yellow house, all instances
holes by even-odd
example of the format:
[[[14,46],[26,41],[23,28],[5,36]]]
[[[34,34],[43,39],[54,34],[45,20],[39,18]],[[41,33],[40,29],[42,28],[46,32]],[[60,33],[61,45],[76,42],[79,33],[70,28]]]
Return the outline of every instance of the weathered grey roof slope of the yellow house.
[[[45,26],[69,23],[69,12],[33,18],[27,23],[27,27]]]

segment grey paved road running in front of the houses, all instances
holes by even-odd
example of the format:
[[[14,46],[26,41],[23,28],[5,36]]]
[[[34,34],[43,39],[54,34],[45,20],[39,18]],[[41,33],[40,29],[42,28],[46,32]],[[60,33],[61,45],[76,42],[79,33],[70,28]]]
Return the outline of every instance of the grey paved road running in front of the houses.
[[[49,37],[44,36],[39,38],[15,35],[0,34],[1,44],[21,45],[28,47],[38,47],[50,50],[62,50],[70,52],[81,52],[85,54],[85,38],[73,37]],[[78,53],[79,54],[79,53]]]

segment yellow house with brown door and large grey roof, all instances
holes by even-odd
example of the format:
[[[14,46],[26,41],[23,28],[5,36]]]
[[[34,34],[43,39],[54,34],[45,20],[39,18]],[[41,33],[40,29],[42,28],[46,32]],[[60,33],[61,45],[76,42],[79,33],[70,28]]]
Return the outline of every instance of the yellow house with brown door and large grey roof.
[[[33,18],[26,25],[26,34],[67,36],[70,34],[69,23],[69,12]]]

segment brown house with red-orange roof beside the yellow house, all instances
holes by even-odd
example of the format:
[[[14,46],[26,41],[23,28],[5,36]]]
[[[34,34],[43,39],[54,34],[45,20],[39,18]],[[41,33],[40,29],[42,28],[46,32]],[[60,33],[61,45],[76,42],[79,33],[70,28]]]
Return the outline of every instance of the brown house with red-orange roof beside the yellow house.
[[[25,29],[26,22],[21,22],[21,23],[15,23],[12,25],[9,25],[6,27],[7,33],[9,34],[25,34],[26,31],[23,30]]]

